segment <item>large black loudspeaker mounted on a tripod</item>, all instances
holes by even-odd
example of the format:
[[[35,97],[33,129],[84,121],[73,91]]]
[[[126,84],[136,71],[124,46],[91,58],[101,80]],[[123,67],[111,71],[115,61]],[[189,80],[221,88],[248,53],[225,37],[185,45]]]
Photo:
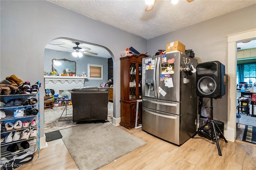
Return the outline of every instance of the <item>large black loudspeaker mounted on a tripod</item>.
[[[225,95],[225,66],[219,61],[200,63],[196,67],[196,94],[206,98]]]

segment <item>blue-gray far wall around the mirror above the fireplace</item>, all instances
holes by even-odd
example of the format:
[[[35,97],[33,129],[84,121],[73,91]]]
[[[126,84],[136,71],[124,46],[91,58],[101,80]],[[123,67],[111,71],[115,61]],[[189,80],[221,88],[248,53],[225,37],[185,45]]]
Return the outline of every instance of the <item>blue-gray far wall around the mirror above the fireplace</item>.
[[[44,50],[44,71],[52,71],[52,59],[68,59],[76,62],[76,74],[85,72],[88,76],[87,64],[103,65],[103,80],[88,80],[84,82],[84,86],[100,86],[102,82],[108,82],[108,59],[102,57],[94,57],[83,55],[81,58],[73,57],[71,53],[57,53],[56,50]]]

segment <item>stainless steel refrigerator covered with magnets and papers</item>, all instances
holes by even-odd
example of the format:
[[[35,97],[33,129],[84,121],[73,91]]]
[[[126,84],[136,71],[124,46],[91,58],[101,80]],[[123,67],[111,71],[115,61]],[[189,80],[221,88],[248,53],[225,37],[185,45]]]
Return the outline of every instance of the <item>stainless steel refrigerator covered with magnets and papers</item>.
[[[196,133],[197,60],[182,52],[142,59],[142,130],[181,145]]]

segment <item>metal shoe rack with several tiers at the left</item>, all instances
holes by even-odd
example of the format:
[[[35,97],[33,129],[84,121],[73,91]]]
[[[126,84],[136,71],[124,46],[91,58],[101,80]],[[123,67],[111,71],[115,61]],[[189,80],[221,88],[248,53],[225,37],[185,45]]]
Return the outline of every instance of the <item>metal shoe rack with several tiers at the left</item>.
[[[40,84],[40,82],[38,81],[38,84]],[[14,158],[16,158],[17,156],[21,156],[22,154],[26,154],[28,151],[33,153],[36,152],[36,150],[38,150],[38,157],[39,157],[39,149],[40,149],[40,99],[39,99],[40,93],[39,93],[39,86],[38,86],[38,93],[37,94],[14,94],[14,95],[0,95],[0,101],[1,102],[8,102],[11,99],[21,99],[22,102],[24,102],[24,100],[26,99],[32,99],[32,98],[36,98],[38,100],[38,102],[36,104],[33,105],[28,105],[28,106],[8,106],[8,107],[0,107],[1,111],[4,111],[4,113],[6,114],[6,117],[0,119],[0,123],[1,126],[5,126],[5,124],[7,122],[11,122],[13,125],[15,124],[16,121],[20,120],[22,121],[22,123],[24,121],[32,121],[33,119],[38,120],[38,123],[35,126],[31,126],[31,124],[28,127],[22,127],[21,129],[13,129],[10,131],[2,131],[1,130],[1,141],[3,138],[5,138],[6,136],[8,136],[10,133],[12,133],[12,137],[14,136],[14,133],[16,131],[21,132],[20,135],[22,134],[22,131],[29,129],[29,131],[33,128],[37,128],[38,129],[38,133],[36,137],[29,137],[26,140],[22,140],[19,139],[18,141],[12,141],[12,142],[8,142],[6,143],[5,141],[2,141],[0,143],[0,158],[1,158],[1,165],[2,165],[2,160],[3,158],[6,158],[7,160],[12,160]],[[34,107],[35,109],[38,109],[38,114],[37,115],[26,115],[26,109],[30,108],[30,107]],[[14,117],[14,111],[15,109],[22,109],[24,108],[24,116],[23,117]],[[2,129],[2,128],[1,128]],[[21,146],[20,143],[23,141],[28,141],[29,145],[30,145],[30,149],[29,150],[24,150]],[[13,145],[14,143],[16,143],[19,147],[19,151],[17,153],[11,153],[11,152],[7,152],[7,148],[10,145]],[[2,169],[2,168],[1,168]]]

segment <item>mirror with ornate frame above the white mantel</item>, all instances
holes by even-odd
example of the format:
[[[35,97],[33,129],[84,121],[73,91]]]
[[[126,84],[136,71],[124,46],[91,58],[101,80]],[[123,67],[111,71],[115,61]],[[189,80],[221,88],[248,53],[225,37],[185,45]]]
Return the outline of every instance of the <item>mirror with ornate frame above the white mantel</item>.
[[[57,74],[76,74],[76,62],[67,59],[52,59],[52,71]]]

